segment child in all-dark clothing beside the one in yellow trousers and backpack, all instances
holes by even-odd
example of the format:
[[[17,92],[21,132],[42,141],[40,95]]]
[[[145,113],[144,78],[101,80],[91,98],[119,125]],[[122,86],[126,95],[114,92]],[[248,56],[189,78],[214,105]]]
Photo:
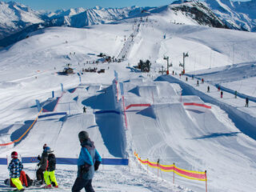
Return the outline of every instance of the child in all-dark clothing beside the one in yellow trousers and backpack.
[[[47,161],[48,161],[48,154],[47,154],[47,151],[46,151],[46,144],[44,146],[42,146],[42,156],[38,156],[38,160],[40,161],[38,163],[38,170],[37,170],[37,180],[35,181],[36,184],[38,185],[42,185],[43,184],[43,172],[46,170],[46,167],[47,167]]]

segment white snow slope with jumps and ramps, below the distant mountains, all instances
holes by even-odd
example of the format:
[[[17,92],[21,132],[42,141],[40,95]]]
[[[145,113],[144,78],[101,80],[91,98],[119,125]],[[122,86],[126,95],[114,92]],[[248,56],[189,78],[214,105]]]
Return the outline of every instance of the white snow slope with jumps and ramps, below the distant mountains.
[[[38,30],[0,50],[0,158],[10,162],[14,150],[37,157],[46,143],[56,158],[75,159],[86,130],[103,159],[129,162],[103,163],[95,191],[255,191],[255,50],[256,33],[170,13]],[[150,72],[142,73],[135,66],[146,59]],[[73,74],[62,74],[67,66]],[[32,162],[23,166],[34,179]],[[59,188],[44,191],[70,191],[77,166],[56,166]],[[0,191],[10,190],[6,178],[0,165]]]

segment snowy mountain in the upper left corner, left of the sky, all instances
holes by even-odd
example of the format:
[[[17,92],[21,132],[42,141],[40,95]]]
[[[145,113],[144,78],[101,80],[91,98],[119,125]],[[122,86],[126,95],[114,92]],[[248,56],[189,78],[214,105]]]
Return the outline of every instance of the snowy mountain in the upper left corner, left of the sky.
[[[17,2],[0,2],[0,39],[48,17]]]

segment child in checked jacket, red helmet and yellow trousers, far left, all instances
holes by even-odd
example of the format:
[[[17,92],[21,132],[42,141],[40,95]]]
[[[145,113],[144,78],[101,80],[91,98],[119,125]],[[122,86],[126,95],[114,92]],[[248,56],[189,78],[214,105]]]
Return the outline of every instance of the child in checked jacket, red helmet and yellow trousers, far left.
[[[21,171],[23,170],[22,162],[18,159],[18,153],[16,151],[11,153],[11,161],[8,166],[10,170],[10,180],[17,187],[15,191],[23,191],[22,182],[19,180]]]

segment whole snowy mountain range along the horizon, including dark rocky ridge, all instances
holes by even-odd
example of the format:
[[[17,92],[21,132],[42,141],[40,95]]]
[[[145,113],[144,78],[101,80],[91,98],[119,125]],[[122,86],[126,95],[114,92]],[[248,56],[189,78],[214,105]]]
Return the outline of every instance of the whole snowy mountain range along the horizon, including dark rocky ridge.
[[[170,22],[202,25],[234,30],[256,31],[256,0],[232,2],[175,1],[168,6],[35,11],[17,2],[0,2],[0,46],[9,46],[31,32],[50,26],[86,27],[98,24],[125,22],[130,18],[158,14]]]

